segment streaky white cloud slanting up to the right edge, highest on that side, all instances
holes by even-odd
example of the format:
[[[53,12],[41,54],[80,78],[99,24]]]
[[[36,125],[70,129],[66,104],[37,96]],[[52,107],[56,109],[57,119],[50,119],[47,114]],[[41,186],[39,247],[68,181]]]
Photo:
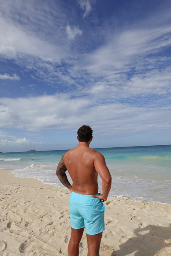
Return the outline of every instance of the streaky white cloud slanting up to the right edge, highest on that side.
[[[85,68],[97,75],[105,75],[109,71],[127,72],[148,54],[157,54],[164,47],[170,47],[170,33],[170,25],[111,32],[105,44],[86,55]]]

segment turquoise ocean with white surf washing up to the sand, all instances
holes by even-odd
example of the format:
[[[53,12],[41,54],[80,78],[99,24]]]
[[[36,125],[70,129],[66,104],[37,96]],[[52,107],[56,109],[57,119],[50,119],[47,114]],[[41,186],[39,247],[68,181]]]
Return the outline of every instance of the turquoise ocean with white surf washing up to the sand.
[[[96,149],[112,176],[109,197],[171,204],[171,145]],[[65,188],[55,175],[67,150],[0,153],[0,168],[16,177],[39,179]],[[71,179],[67,173],[70,182]],[[99,178],[99,192],[101,192]]]

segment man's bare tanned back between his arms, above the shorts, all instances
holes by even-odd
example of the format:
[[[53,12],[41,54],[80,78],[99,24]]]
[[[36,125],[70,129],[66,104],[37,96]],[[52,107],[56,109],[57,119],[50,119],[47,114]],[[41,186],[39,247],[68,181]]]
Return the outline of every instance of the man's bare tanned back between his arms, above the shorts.
[[[90,149],[84,142],[65,153],[63,161],[72,179],[74,192],[84,195],[98,193],[95,163],[101,158],[103,157],[99,152]]]

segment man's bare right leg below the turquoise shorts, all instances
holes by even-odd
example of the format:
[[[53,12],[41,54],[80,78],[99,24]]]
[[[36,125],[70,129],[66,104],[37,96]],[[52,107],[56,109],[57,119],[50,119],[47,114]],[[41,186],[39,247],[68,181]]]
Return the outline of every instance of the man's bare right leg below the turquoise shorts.
[[[88,254],[87,256],[99,256],[100,242],[103,232],[96,235],[87,235]]]

